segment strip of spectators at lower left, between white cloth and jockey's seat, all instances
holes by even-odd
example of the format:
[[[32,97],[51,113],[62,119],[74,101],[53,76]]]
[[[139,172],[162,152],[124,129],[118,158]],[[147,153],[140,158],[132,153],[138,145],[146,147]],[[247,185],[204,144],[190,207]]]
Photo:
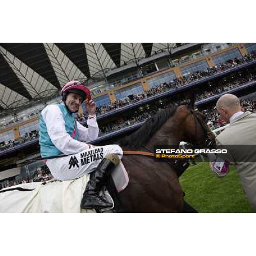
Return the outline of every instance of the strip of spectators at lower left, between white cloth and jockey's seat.
[[[31,176],[17,176],[3,180],[0,183],[0,189],[4,189],[10,186],[15,186],[23,183],[31,182],[44,182],[53,178],[47,166],[41,166],[40,169],[36,170]]]

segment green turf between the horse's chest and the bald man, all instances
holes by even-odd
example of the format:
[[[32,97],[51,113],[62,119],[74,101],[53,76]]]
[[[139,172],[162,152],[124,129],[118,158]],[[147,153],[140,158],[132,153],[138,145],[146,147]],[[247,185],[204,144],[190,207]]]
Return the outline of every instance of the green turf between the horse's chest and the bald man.
[[[247,202],[236,169],[218,178],[209,162],[192,164],[180,177],[185,200],[198,212],[253,212]]]

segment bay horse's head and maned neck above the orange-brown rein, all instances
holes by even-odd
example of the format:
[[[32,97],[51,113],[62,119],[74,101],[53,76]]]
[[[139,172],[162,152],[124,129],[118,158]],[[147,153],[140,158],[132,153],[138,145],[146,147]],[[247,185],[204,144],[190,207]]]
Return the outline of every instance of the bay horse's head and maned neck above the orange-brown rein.
[[[214,141],[215,135],[202,113],[188,105],[170,105],[151,116],[139,130],[118,144],[130,149],[147,145],[152,149],[154,145],[179,145],[180,141],[203,146],[209,139]]]

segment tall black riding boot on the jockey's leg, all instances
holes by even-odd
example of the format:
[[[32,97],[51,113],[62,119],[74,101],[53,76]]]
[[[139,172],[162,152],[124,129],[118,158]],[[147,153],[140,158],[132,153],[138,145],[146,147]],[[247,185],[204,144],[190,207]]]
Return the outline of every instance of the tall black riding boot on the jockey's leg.
[[[109,175],[113,171],[114,167],[119,163],[119,157],[117,155],[111,154],[108,156],[103,158],[97,169],[90,176],[90,180],[86,185],[81,201],[82,209],[102,209],[113,207],[113,204],[108,202],[104,196],[99,195],[99,192],[102,190]]]

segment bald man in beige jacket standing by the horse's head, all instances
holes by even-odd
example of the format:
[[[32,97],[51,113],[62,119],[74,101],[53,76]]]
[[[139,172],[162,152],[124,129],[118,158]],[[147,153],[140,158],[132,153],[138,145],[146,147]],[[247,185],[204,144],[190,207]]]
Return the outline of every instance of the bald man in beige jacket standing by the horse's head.
[[[228,151],[219,157],[236,166],[246,197],[256,212],[256,114],[242,112],[240,100],[233,94],[221,96],[216,108],[221,119],[230,123],[216,137],[217,147]]]

